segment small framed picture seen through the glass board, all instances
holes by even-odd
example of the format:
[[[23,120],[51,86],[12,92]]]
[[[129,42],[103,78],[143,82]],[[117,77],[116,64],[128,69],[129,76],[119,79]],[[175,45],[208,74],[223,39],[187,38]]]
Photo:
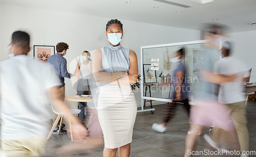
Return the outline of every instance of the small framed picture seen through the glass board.
[[[156,66],[143,64],[144,83],[157,83]]]

